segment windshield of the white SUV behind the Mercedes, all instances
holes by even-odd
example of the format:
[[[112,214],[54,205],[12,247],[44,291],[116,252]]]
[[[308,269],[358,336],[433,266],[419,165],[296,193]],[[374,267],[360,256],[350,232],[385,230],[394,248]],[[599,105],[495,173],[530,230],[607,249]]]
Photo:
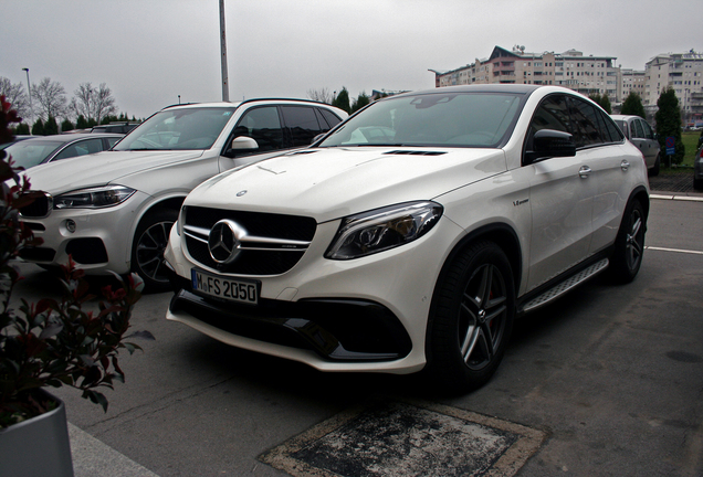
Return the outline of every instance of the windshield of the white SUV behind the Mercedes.
[[[234,109],[202,107],[159,112],[115,145],[113,150],[210,149]]]

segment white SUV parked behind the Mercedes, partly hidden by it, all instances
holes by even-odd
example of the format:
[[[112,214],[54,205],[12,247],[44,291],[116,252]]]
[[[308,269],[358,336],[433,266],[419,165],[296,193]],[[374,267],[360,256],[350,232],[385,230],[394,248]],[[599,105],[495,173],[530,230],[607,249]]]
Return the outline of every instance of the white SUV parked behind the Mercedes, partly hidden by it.
[[[23,209],[22,220],[43,244],[20,256],[55,268],[71,255],[88,274],[136,272],[147,290],[168,289],[164,248],[192,188],[309,146],[346,117],[326,104],[293,99],[167,107],[109,151],[25,172],[44,198]]]

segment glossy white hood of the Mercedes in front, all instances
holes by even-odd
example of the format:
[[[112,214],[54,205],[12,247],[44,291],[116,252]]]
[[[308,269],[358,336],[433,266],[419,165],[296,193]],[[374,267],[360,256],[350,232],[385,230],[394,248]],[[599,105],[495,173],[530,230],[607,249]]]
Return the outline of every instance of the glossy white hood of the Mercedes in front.
[[[217,176],[196,188],[186,204],[309,215],[322,223],[431,200],[506,170],[502,149],[431,152],[437,155],[388,147],[306,149]]]

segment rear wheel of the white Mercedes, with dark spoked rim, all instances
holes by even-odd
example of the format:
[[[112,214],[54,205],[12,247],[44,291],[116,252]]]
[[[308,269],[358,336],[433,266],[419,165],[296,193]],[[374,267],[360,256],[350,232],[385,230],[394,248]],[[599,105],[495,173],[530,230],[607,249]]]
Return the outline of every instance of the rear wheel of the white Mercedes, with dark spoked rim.
[[[625,211],[610,263],[610,276],[617,283],[632,282],[640,271],[646,232],[644,208],[639,200],[633,199]]]

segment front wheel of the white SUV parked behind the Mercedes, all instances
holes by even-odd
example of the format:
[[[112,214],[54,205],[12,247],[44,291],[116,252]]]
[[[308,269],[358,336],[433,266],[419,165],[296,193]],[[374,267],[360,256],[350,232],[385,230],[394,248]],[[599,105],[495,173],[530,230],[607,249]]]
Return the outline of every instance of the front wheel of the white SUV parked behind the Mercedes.
[[[170,289],[164,251],[177,219],[177,210],[162,209],[146,214],[137,226],[132,245],[132,271],[141,277],[147,293]]]

